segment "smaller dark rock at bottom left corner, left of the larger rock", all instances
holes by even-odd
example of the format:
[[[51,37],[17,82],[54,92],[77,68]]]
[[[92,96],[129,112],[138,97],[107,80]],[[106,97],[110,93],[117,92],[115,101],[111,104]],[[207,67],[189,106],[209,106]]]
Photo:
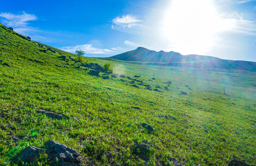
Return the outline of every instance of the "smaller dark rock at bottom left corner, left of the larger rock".
[[[24,163],[33,163],[37,161],[39,158],[39,154],[42,154],[45,149],[37,148],[34,146],[29,146],[22,150],[13,160],[14,163],[18,163],[18,161],[23,161]]]

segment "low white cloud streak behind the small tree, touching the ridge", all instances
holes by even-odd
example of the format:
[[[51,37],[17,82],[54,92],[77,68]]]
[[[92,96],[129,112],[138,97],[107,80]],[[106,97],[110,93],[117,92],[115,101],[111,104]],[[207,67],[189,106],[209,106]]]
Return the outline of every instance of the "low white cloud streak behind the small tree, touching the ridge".
[[[63,51],[70,52],[70,53],[75,53],[75,51],[77,49],[81,49],[81,50],[85,51],[85,56],[86,56],[86,53],[88,53],[88,54],[111,54],[111,53],[117,53],[117,52],[122,51],[120,49],[120,47],[111,48],[111,49],[96,48],[96,47],[93,47],[92,44],[66,46],[66,47],[61,47],[60,49]]]

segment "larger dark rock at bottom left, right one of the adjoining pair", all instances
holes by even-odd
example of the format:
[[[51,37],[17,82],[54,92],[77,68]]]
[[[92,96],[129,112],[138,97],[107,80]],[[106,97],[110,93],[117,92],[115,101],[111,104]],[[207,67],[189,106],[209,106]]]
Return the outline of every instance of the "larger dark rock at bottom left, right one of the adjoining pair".
[[[45,153],[48,154],[48,159],[55,161],[57,158],[60,166],[79,166],[81,163],[80,154],[63,143],[49,140],[44,143],[44,146],[46,148]]]

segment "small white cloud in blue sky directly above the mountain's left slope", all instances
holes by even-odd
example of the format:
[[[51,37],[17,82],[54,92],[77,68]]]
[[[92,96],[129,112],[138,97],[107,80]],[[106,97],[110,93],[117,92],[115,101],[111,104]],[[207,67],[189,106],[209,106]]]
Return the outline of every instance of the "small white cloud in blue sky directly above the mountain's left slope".
[[[141,25],[140,22],[142,22],[142,20],[133,15],[116,17],[112,20],[113,24],[111,25],[111,29],[136,33],[139,31],[138,27]]]

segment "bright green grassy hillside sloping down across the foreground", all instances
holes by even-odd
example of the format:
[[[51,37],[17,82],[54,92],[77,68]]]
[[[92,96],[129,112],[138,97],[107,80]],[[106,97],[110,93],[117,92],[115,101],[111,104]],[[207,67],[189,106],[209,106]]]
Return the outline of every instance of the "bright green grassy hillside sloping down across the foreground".
[[[84,58],[111,63],[113,73],[140,75],[136,79],[161,93],[127,77],[91,76],[76,68],[75,55],[44,53],[37,42],[0,26],[0,164],[11,165],[22,149],[49,139],[79,151],[84,166],[171,166],[172,158],[187,166],[224,166],[233,158],[256,164],[255,72]],[[155,147],[145,156],[134,153],[132,145],[143,142]]]

